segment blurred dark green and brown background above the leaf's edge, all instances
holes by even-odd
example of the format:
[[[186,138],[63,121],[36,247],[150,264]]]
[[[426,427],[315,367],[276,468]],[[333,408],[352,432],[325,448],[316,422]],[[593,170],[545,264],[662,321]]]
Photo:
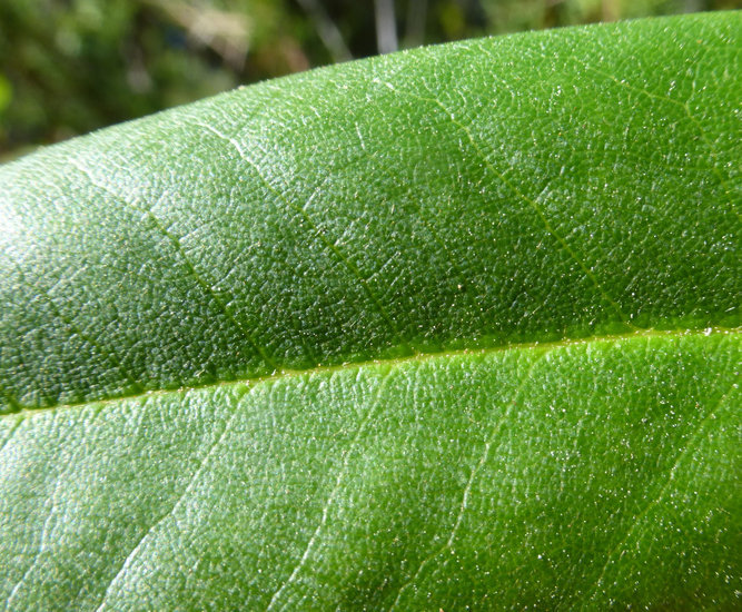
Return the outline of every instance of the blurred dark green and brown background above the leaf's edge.
[[[0,0],[0,161],[238,85],[462,38],[740,0]]]

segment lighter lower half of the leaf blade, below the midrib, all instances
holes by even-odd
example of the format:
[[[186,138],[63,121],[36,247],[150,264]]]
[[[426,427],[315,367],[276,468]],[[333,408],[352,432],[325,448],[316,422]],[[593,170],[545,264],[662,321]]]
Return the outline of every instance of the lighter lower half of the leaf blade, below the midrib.
[[[42,551],[11,604],[732,603],[739,361],[736,334],[632,336],[27,413],[0,516],[65,494],[2,524],[3,559]]]

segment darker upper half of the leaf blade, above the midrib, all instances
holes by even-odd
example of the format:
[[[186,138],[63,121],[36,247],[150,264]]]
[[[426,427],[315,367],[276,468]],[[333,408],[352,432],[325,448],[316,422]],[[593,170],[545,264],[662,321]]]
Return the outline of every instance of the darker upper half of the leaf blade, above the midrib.
[[[6,395],[738,326],[739,71],[698,40],[733,65],[739,19],[378,58],[6,166]]]

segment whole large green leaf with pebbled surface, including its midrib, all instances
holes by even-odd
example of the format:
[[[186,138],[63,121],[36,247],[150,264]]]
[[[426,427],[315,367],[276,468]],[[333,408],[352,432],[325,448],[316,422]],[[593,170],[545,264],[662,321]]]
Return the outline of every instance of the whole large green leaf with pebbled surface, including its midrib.
[[[0,168],[0,601],[739,605],[740,31],[419,49]]]

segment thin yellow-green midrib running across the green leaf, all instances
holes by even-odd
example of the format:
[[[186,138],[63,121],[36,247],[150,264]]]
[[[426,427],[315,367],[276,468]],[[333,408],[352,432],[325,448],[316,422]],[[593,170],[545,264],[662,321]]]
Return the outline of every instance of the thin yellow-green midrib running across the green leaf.
[[[416,353],[414,355],[404,356],[404,357],[392,357],[392,358],[377,358],[368,359],[363,362],[345,362],[342,364],[334,365],[321,365],[318,364],[314,367],[308,367],[304,369],[290,369],[283,368],[276,371],[269,375],[263,376],[245,376],[240,378],[233,378],[228,381],[216,381],[208,382],[205,384],[191,384],[191,385],[181,385],[174,388],[155,388],[148,389],[145,392],[137,392],[132,394],[122,394],[122,395],[111,395],[109,397],[101,397],[98,399],[86,399],[81,402],[70,402],[70,403],[59,403],[50,406],[39,406],[39,407],[21,407],[18,411],[6,413],[0,415],[2,418],[8,417],[26,417],[39,413],[48,413],[50,411],[60,411],[60,409],[70,409],[70,408],[82,408],[85,406],[99,406],[102,407],[107,404],[132,401],[132,399],[142,399],[158,396],[167,395],[178,395],[185,394],[192,391],[201,391],[209,388],[222,388],[237,385],[249,385],[255,387],[260,384],[273,384],[278,381],[285,381],[288,378],[298,378],[301,376],[313,376],[316,374],[333,374],[336,372],[343,372],[347,369],[363,369],[365,367],[373,366],[388,366],[388,367],[398,367],[404,364],[409,363],[421,363],[428,362],[438,358],[452,358],[457,356],[484,356],[493,353],[505,353],[508,351],[533,351],[533,349],[544,349],[551,352],[557,348],[565,348],[570,346],[582,346],[590,344],[602,344],[602,343],[617,343],[622,340],[632,340],[632,339],[642,339],[642,338],[653,338],[653,337],[687,337],[687,336],[711,336],[711,335],[732,335],[739,334],[742,329],[739,327],[705,327],[705,328],[685,328],[685,329],[640,329],[637,332],[631,332],[625,334],[605,334],[605,335],[594,335],[585,336],[580,338],[564,338],[561,340],[553,342],[540,342],[533,340],[527,343],[512,343],[504,345],[489,346],[484,348],[461,348],[454,351],[432,351],[427,353]]]

